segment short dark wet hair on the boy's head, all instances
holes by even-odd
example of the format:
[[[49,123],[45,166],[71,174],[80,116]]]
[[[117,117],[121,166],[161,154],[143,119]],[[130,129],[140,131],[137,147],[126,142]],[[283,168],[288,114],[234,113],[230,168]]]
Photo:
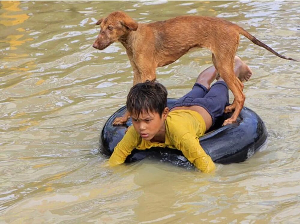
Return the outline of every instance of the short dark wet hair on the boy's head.
[[[131,87],[127,96],[126,106],[131,114],[139,116],[145,110],[149,112],[158,112],[163,114],[167,107],[167,89],[160,83],[149,81],[138,83]]]

